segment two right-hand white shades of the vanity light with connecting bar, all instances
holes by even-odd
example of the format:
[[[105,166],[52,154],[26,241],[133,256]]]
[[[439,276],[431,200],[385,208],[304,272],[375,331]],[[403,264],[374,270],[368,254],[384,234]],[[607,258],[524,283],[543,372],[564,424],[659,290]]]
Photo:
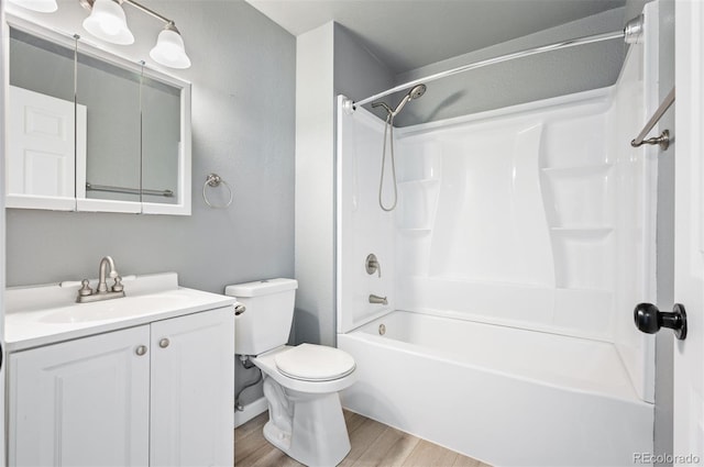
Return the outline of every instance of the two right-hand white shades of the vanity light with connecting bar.
[[[84,21],[84,27],[96,37],[112,44],[127,45],[134,42],[134,36],[128,27],[122,3],[131,4],[143,13],[164,22],[165,26],[158,34],[156,45],[150,52],[150,57],[152,57],[154,62],[170,68],[190,67],[190,58],[186,55],[186,47],[184,46],[180,32],[176,29],[174,21],[168,18],[133,0],[78,1],[85,9],[90,10],[90,15]]]

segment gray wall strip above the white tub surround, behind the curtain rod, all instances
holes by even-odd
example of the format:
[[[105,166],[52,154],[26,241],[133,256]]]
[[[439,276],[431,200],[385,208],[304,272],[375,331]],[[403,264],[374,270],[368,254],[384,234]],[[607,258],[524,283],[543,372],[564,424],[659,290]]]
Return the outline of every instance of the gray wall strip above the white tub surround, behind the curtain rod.
[[[622,31],[624,8],[551,27],[417,68],[396,77],[396,85],[436,73],[575,37]],[[612,86],[625,58],[622,40],[532,55],[428,82],[426,94],[407,105],[398,126],[450,119],[508,105]],[[400,97],[386,98],[396,104]]]

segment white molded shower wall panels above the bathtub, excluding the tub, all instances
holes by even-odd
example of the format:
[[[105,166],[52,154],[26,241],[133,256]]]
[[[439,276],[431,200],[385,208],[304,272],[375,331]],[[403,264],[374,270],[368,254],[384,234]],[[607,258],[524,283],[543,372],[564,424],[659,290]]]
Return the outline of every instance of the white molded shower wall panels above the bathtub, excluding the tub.
[[[609,147],[613,135],[597,137],[626,119],[618,91],[396,131],[392,213],[376,204],[383,122],[363,109],[339,112],[338,331],[397,308],[614,342],[617,294],[642,287],[622,283],[617,259],[632,257],[636,278],[647,277],[627,232],[650,214],[645,153],[631,149],[631,159]],[[582,135],[590,137],[574,145]],[[384,265],[381,278],[364,270],[370,253]],[[388,296],[388,304],[360,291]]]

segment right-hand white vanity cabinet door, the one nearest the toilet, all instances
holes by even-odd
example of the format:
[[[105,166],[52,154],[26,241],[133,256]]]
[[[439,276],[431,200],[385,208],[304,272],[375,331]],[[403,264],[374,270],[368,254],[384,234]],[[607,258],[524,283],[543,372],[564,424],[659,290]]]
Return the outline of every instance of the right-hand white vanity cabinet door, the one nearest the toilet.
[[[152,466],[232,466],[231,307],[152,324]]]

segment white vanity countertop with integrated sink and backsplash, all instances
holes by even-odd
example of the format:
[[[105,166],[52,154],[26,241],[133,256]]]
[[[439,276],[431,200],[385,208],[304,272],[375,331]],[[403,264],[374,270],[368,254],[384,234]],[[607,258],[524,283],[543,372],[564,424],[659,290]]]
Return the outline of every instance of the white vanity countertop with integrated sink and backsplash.
[[[127,297],[76,303],[78,282],[6,290],[8,352],[117,331],[234,304],[233,297],[178,286],[175,273],[123,280]]]

